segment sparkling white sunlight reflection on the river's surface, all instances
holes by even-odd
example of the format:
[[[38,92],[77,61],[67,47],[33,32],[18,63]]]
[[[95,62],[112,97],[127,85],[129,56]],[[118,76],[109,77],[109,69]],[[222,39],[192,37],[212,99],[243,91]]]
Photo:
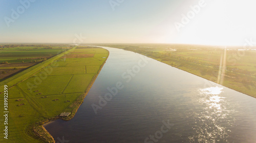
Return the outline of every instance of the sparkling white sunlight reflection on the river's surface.
[[[199,105],[204,107],[204,110],[196,117],[199,118],[199,126],[194,129],[198,133],[189,137],[190,142],[222,142],[227,141],[228,128],[232,125],[230,123],[230,110],[226,110],[228,102],[225,97],[221,96],[223,88],[210,87],[206,89],[199,89]],[[234,119],[231,119],[234,121]],[[221,123],[227,122],[228,125]]]

